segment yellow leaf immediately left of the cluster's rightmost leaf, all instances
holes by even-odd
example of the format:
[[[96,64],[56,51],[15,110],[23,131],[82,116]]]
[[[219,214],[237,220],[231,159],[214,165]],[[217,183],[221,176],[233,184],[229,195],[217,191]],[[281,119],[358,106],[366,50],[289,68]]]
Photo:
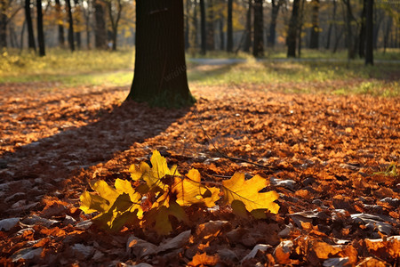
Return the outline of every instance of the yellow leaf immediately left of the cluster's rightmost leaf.
[[[176,203],[180,206],[204,204],[211,207],[215,206],[215,201],[220,199],[220,189],[204,186],[201,183],[200,173],[196,169],[191,169],[187,178],[175,177],[172,193],[176,195]]]

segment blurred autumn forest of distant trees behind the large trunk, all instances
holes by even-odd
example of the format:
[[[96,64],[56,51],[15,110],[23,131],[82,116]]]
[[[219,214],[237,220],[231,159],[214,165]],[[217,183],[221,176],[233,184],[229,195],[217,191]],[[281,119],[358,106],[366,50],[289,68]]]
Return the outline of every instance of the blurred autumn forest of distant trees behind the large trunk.
[[[398,0],[185,0],[184,4],[185,46],[192,57],[215,56],[215,51],[226,52],[224,57],[242,52],[301,57],[301,49],[312,49],[330,52],[329,57],[345,51],[348,59],[364,58],[371,33],[375,52],[398,60]],[[44,56],[48,48],[115,51],[134,43],[133,0],[0,0],[0,49],[31,49]]]

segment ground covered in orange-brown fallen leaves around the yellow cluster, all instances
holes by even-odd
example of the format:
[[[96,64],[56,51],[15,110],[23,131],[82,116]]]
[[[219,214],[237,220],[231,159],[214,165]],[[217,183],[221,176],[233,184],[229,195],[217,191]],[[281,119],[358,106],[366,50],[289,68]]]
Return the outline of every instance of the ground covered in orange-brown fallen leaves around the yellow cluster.
[[[198,86],[180,110],[128,88],[0,85],[0,265],[400,264],[400,99]],[[191,208],[169,236],[109,233],[79,207],[159,150],[206,181],[260,174],[278,214]]]

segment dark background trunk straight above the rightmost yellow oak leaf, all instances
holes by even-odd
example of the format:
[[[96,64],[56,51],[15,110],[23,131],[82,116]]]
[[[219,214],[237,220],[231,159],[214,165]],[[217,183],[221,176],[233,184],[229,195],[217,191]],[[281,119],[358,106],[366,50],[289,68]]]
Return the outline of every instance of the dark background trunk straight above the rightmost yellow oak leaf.
[[[264,19],[262,17],[262,0],[254,0],[254,43],[252,55],[260,57],[264,55]]]

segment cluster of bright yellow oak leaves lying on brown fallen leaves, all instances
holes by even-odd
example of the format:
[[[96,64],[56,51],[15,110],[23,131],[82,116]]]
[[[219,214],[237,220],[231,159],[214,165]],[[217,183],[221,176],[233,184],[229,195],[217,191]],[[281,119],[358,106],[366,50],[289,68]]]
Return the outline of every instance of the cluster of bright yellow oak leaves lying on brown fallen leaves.
[[[196,169],[182,176],[177,166],[169,168],[157,150],[150,162],[151,167],[145,162],[130,167],[132,181],[116,179],[114,187],[104,181],[90,182],[93,192],[81,195],[80,208],[85,214],[96,213],[93,221],[108,230],[139,225],[160,235],[172,231],[170,216],[188,223],[185,206],[230,205],[236,214],[251,213],[256,218],[262,218],[267,210],[272,214],[279,210],[274,202],[279,197],[276,191],[260,192],[268,185],[260,175],[244,180],[244,174],[236,173],[221,184],[205,184]]]

